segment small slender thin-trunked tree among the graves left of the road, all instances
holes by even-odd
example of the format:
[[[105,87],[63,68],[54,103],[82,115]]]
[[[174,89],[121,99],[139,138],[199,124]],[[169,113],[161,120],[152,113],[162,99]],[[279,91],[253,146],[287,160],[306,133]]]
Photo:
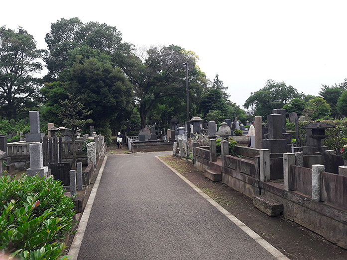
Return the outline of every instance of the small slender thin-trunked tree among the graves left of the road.
[[[62,119],[63,124],[71,128],[72,138],[72,169],[76,169],[76,133],[78,127],[83,127],[87,123],[92,123],[92,119],[85,119],[92,111],[84,109],[83,104],[80,102],[79,97],[73,97],[69,94],[69,98],[60,100],[60,113],[59,117]]]

